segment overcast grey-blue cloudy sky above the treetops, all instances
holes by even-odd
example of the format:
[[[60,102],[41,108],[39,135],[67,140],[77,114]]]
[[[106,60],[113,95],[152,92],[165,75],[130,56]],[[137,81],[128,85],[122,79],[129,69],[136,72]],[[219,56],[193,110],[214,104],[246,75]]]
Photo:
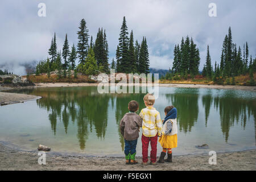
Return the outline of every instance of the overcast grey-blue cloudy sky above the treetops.
[[[38,16],[41,2],[46,4],[46,17]],[[217,17],[208,15],[209,3],[216,3]],[[222,42],[229,26],[233,42],[242,48],[247,41],[249,53],[255,57],[255,8],[255,0],[1,0],[0,65],[8,63],[9,69],[13,67],[10,71],[24,74],[18,63],[46,59],[54,32],[58,49],[62,49],[66,33],[69,45],[76,45],[82,18],[93,38],[99,27],[106,29],[111,61],[126,16],[128,30],[133,30],[135,40],[141,42],[143,36],[147,38],[151,68],[171,67],[174,45],[188,35],[200,49],[202,69],[207,44],[212,64],[220,62]]]

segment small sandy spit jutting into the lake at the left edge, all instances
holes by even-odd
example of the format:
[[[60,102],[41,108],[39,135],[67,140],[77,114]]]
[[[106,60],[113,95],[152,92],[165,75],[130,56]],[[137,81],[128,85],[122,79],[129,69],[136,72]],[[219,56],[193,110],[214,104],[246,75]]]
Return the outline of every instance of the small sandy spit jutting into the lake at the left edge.
[[[0,105],[14,104],[19,102],[34,100],[37,98],[40,98],[40,97],[27,95],[27,94],[0,92]]]

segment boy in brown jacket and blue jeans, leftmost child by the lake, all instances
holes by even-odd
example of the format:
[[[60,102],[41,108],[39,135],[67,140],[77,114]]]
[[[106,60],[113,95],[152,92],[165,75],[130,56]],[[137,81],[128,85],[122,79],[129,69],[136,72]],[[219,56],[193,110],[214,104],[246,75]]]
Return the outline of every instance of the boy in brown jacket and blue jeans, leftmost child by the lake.
[[[142,127],[142,118],[136,114],[139,110],[138,102],[130,101],[128,109],[129,113],[126,113],[120,122],[120,130],[125,139],[126,164],[137,164],[135,155],[137,140],[139,138],[139,127]]]

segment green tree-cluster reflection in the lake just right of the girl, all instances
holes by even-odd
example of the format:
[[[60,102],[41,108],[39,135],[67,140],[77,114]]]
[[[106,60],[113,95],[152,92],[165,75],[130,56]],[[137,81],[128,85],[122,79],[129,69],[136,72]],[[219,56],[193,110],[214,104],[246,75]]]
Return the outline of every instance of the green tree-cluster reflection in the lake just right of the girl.
[[[180,131],[191,131],[192,126],[197,122],[199,106],[198,89],[180,89],[176,88],[174,94],[166,94],[170,105],[177,108],[177,122],[179,122]]]

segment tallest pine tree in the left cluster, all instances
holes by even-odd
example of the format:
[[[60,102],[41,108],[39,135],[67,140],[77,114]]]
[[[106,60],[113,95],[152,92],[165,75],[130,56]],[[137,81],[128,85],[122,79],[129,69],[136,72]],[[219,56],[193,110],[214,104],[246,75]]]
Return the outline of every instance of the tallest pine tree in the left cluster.
[[[77,53],[79,55],[79,63],[85,64],[86,56],[88,55],[88,29],[86,27],[85,19],[80,22],[79,31],[77,32],[79,42],[77,44]]]

